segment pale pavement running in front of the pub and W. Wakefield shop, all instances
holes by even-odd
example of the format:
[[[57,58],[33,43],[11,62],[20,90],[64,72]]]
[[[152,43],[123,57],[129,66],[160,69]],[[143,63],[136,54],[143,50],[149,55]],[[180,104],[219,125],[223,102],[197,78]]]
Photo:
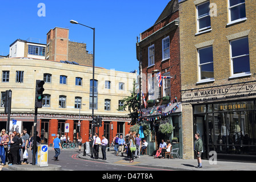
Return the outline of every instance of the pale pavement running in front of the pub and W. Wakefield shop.
[[[82,151],[82,150],[81,150]],[[203,168],[195,168],[198,165],[197,159],[154,159],[150,155],[141,155],[141,158],[134,159],[133,163],[129,162],[126,158],[127,155],[116,156],[114,150],[106,151],[107,160],[102,160],[102,152],[99,150],[99,159],[91,159],[90,155],[83,156],[83,152],[78,155],[81,159],[94,160],[98,162],[105,162],[111,164],[122,164],[138,167],[161,168],[179,171],[255,171],[256,163],[243,163],[243,162],[225,162],[217,161],[217,164],[210,164],[209,160],[202,160]]]

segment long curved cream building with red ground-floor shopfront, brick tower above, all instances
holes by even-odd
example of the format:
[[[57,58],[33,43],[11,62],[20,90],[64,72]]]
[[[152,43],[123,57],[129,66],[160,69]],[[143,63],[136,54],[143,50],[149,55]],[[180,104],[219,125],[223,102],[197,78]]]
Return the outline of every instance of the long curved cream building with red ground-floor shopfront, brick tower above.
[[[50,42],[44,45],[45,52],[49,53],[47,60],[42,57],[1,59],[0,128],[6,129],[7,114],[3,114],[5,91],[11,89],[10,129],[21,132],[26,128],[30,135],[33,134],[35,80],[44,80],[43,107],[38,109],[37,120],[37,131],[42,143],[52,144],[56,134],[66,135],[70,140],[75,140],[80,135],[83,142],[88,141],[89,133],[92,132],[92,107],[94,116],[102,117],[102,127],[94,128],[95,132],[99,131],[100,137],[105,134],[111,142],[115,134],[127,134],[130,129],[129,112],[117,109],[123,105],[121,100],[130,96],[137,75],[95,67],[95,94],[92,105],[92,66],[79,64],[75,58],[66,61],[71,55],[70,42],[63,38],[67,37],[68,30],[54,30],[57,31],[54,33],[57,37],[54,38],[54,35],[50,34],[54,32],[51,30],[47,34],[47,38],[50,35]],[[38,53],[38,49],[35,50],[34,53]],[[50,57],[54,60],[49,60]],[[15,125],[13,120],[17,121]],[[65,130],[67,125],[69,130]]]

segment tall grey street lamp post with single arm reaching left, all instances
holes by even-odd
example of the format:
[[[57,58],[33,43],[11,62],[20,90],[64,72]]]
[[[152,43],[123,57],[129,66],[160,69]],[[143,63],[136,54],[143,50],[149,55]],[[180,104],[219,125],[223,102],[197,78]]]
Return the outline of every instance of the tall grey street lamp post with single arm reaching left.
[[[73,24],[81,24],[81,23],[78,23],[77,21],[75,20],[70,20],[70,23],[73,23]],[[81,24],[82,26],[85,26],[85,27],[88,27],[88,28],[91,28],[93,29],[93,107],[91,109],[91,133],[93,134],[93,120],[94,120],[94,67],[95,67],[95,28],[92,28],[92,27],[89,27],[89,26],[86,26],[84,24]],[[93,147],[91,147],[91,158],[93,158]]]

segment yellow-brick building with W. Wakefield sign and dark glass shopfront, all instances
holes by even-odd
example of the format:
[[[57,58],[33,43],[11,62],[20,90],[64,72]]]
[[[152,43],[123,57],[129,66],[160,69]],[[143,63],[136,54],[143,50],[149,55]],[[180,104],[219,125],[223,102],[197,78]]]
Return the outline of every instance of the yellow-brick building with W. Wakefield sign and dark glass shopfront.
[[[255,160],[255,2],[181,0],[183,157]]]

